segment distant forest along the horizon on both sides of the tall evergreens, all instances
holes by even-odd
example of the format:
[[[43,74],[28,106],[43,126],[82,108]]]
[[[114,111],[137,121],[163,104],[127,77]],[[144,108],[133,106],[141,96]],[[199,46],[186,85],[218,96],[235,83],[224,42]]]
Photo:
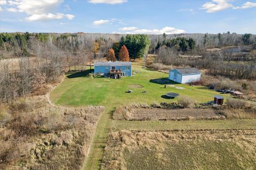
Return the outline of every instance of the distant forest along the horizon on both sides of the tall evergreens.
[[[46,55],[50,49],[65,55],[86,55],[95,59],[106,55],[109,48],[119,47],[124,34],[108,33],[0,33],[0,56]],[[149,54],[157,54],[159,47],[167,46],[180,52],[223,46],[255,45],[256,35],[246,33],[186,33],[179,35],[147,35]],[[136,41],[136,40],[134,40]],[[131,42],[132,43],[132,42]],[[141,56],[139,56],[141,57]]]

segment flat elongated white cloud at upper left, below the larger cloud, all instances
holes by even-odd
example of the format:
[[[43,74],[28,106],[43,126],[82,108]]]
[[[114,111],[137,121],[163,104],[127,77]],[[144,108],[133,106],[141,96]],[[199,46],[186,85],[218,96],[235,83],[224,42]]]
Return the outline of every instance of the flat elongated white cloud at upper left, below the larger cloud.
[[[45,21],[45,20],[53,20],[53,19],[63,19],[63,18],[68,18],[69,20],[72,20],[75,15],[70,15],[70,14],[62,14],[62,13],[57,13],[57,14],[52,14],[52,13],[47,13],[47,14],[34,14],[26,18],[27,21]]]

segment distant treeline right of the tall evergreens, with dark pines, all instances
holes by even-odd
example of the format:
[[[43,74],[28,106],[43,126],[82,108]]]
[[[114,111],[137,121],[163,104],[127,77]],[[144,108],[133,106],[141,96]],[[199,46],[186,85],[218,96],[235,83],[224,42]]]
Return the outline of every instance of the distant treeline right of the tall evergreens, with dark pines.
[[[218,33],[212,34],[184,34],[184,35],[166,35],[165,33],[157,39],[151,37],[150,50],[151,53],[157,51],[159,47],[167,46],[174,48],[181,52],[188,50],[197,50],[202,48],[220,48],[225,46],[238,46],[238,45],[256,45],[256,36],[251,33],[238,35],[236,33]],[[154,48],[155,47],[155,48]],[[152,49],[154,48],[154,49]]]

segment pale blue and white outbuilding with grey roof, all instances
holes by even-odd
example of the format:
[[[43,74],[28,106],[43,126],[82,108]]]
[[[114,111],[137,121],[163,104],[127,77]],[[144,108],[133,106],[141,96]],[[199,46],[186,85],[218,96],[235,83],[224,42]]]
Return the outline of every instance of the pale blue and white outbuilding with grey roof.
[[[200,78],[201,72],[196,68],[173,69],[169,71],[169,79],[182,84],[198,81]]]

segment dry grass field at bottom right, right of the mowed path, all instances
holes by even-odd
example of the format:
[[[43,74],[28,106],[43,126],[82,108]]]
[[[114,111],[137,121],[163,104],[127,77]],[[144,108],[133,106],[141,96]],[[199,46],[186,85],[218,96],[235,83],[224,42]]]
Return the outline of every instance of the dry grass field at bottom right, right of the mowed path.
[[[101,169],[255,169],[256,130],[111,132]]]

